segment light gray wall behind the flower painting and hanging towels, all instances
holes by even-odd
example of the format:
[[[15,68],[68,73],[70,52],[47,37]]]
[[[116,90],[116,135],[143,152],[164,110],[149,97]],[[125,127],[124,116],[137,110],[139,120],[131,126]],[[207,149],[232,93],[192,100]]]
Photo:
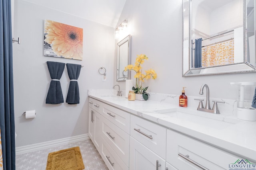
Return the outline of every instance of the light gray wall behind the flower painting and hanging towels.
[[[83,60],[44,57],[44,19],[83,28]],[[16,147],[62,139],[88,133],[88,89],[110,89],[114,71],[114,28],[101,25],[57,10],[15,0],[14,37],[21,44],[14,48],[14,105]],[[81,64],[78,78],[80,104],[45,104],[50,85],[46,61]],[[104,66],[107,80],[102,81],[98,69]],[[69,78],[66,67],[60,79],[64,101]],[[36,109],[35,119],[21,114]]]

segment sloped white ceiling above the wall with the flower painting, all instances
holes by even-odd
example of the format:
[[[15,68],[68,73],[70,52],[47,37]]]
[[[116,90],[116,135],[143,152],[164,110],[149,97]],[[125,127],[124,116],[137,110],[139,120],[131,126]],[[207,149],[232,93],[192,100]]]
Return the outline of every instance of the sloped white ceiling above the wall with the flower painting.
[[[126,0],[24,0],[86,20],[116,27]]]

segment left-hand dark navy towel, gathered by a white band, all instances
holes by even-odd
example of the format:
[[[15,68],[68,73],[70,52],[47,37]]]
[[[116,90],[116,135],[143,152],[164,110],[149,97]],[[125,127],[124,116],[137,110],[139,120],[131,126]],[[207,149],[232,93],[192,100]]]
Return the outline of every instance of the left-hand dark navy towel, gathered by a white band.
[[[47,61],[48,70],[52,81],[46,97],[46,104],[60,104],[63,103],[62,90],[60,86],[60,78],[65,68],[65,63],[58,63]],[[55,80],[54,80],[55,79]]]

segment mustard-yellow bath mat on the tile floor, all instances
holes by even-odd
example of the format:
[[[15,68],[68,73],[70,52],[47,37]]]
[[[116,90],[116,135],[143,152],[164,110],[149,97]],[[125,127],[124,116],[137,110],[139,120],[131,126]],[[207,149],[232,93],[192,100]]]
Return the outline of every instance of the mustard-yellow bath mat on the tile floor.
[[[46,170],[83,170],[84,162],[79,147],[48,154]]]

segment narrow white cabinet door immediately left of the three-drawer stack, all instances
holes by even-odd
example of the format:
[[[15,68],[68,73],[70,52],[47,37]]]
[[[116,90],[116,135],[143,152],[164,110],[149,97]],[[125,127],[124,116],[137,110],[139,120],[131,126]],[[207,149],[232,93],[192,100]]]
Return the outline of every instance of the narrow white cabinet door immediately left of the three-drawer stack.
[[[94,111],[94,145],[96,149],[101,150],[101,136],[102,136],[102,115]]]

